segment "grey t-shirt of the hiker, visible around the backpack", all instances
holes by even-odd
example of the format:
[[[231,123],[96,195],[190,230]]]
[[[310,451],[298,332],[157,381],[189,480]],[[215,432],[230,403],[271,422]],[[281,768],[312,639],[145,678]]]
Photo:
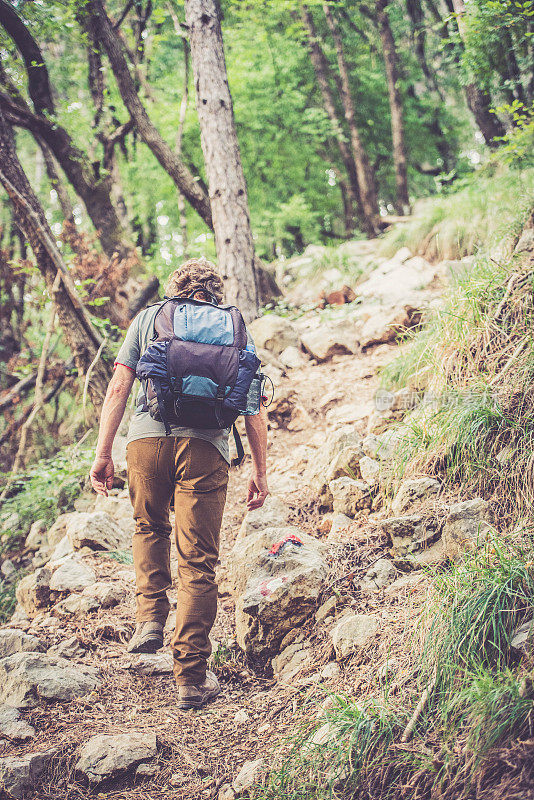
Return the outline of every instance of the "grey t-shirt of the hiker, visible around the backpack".
[[[147,349],[150,339],[154,335],[154,318],[160,308],[160,303],[145,308],[131,323],[126,332],[126,336],[115,359],[115,364],[123,364],[125,367],[135,372],[137,362]],[[249,336],[250,340],[250,336]],[[251,341],[251,340],[250,340]],[[143,389],[140,386],[136,397],[136,408],[128,428],[127,443],[136,439],[145,439],[152,436],[165,436],[165,426],[163,422],[153,419],[148,411],[142,411],[139,405],[143,397]],[[228,447],[228,435],[230,428],[204,429],[204,428],[181,428],[174,426],[171,428],[171,436],[191,436],[194,439],[204,439],[211,442],[222,457],[230,463],[230,453]]]

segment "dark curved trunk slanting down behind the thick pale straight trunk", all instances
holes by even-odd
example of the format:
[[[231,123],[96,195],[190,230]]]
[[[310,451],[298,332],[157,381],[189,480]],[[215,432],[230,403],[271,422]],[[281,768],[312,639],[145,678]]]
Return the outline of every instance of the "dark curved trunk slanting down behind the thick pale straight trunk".
[[[89,0],[87,8],[94,15],[94,28],[107,53],[124,105],[134,120],[140,137],[147,147],[152,150],[165,172],[172,178],[191,206],[200,214],[206,225],[211,228],[209,198],[202,191],[193,174],[163,139],[148,116],[139,99],[128,69],[122,42],[106,14],[102,0]]]

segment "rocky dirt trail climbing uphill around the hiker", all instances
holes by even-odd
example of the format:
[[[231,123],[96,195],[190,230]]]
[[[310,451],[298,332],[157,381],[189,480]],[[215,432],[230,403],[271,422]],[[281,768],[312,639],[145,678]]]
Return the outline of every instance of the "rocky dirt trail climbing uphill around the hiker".
[[[387,490],[389,428],[418,412],[409,387],[377,409],[377,373],[401,352],[398,334],[439,302],[454,264],[430,265],[406,248],[386,260],[372,242],[349,245],[365,273],[357,301],[296,318],[267,314],[252,326],[276,386],[272,495],[245,516],[249,464],[232,470],[212,633],[221,697],[199,712],[176,710],[172,613],[160,653],[126,653],[127,488],[109,498],[85,492],[48,531],[35,521],[23,554],[31,568],[0,629],[2,797],[247,796],[329,693],[358,698],[386,676],[402,691],[427,591],[422,567],[464,546],[487,509],[476,498],[445,508],[428,476],[402,482],[393,497]],[[306,258],[281,276],[298,304],[323,288]],[[325,736],[320,728],[314,744]]]

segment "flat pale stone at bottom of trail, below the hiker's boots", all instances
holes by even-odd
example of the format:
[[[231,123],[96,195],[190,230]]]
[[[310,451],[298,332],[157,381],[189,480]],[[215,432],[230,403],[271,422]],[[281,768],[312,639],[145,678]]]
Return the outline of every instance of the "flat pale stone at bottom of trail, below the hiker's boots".
[[[98,734],[80,748],[75,769],[94,785],[124,775],[157,753],[155,733]]]

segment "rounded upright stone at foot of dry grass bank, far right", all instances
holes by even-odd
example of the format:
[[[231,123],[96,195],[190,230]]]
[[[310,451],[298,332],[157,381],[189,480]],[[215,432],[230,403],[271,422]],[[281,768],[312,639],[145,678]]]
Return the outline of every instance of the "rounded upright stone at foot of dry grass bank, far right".
[[[481,497],[455,503],[443,526],[443,546],[447,558],[458,558],[462,553],[482,545],[491,531],[488,503]]]

